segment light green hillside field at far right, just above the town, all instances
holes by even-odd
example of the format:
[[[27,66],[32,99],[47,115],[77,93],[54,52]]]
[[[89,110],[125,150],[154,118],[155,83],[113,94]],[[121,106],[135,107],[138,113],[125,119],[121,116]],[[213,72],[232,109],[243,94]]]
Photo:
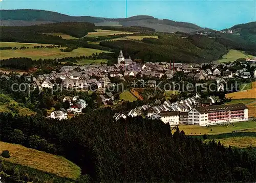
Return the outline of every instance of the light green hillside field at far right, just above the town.
[[[237,59],[246,59],[248,57],[254,57],[251,55],[247,55],[244,53],[244,51],[236,50],[236,49],[230,49],[227,55],[224,55],[222,59],[218,60],[218,63],[223,62],[234,62]]]

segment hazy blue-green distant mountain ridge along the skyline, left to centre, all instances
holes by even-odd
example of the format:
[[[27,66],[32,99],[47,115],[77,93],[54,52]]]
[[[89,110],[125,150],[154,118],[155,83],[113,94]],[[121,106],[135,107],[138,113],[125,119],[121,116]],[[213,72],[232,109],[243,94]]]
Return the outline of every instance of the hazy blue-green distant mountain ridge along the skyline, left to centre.
[[[45,24],[53,22],[91,22],[96,26],[104,26],[115,22],[124,27],[140,26],[155,29],[158,32],[196,32],[207,31],[193,23],[177,22],[168,19],[158,19],[148,15],[138,15],[129,18],[104,18],[92,16],[69,16],[57,12],[45,10],[0,10],[0,19],[2,26],[27,26],[35,24]]]

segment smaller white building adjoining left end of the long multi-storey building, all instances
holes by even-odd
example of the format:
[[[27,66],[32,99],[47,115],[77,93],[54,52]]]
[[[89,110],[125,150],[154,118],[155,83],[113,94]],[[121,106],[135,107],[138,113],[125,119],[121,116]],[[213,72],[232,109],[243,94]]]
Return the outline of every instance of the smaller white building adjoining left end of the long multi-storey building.
[[[179,124],[179,113],[174,112],[161,112],[151,116],[152,119],[160,119],[164,123],[169,123],[169,125],[178,125]]]

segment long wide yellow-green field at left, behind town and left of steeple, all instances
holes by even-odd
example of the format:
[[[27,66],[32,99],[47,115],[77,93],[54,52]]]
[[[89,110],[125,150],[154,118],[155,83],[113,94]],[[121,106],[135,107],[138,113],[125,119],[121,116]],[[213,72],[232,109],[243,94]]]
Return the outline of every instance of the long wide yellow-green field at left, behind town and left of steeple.
[[[18,44],[13,44],[13,47]],[[40,44],[42,45],[42,44]],[[32,47],[32,46],[31,46]],[[91,56],[94,54],[102,53],[102,50],[91,49],[91,48],[77,48],[71,52],[61,52],[60,48],[29,48],[29,49],[10,49],[10,50],[0,50],[0,59],[9,59],[13,57],[27,57],[32,59],[55,59],[55,58],[65,58],[65,57],[76,57],[76,56]],[[105,51],[107,52],[107,51]]]

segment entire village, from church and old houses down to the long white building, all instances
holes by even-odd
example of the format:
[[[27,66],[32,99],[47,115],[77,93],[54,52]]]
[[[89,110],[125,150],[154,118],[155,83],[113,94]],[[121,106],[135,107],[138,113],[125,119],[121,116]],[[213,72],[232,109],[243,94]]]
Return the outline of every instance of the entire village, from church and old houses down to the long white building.
[[[157,85],[155,79],[170,80],[174,78],[176,73],[183,73],[187,79],[201,84],[203,81],[215,81],[218,85],[218,91],[221,91],[224,90],[223,84],[227,83],[228,79],[256,78],[256,69],[250,72],[244,67],[231,71],[234,64],[183,64],[174,61],[142,64],[134,62],[131,57],[125,59],[122,50],[120,50],[117,64],[113,66],[107,66],[106,64],[63,66],[60,70],[54,70],[50,74],[31,75],[26,76],[26,78],[40,90],[44,90],[44,88],[53,90],[56,87],[61,87],[97,92],[98,97],[95,102],[108,106],[109,103],[115,103],[114,100],[117,94],[116,90],[110,91],[110,89],[119,87],[119,84],[122,84],[121,82],[128,82],[131,87],[132,85],[136,87],[136,83],[142,83],[142,87],[155,88]],[[248,59],[243,64],[245,66],[250,65],[250,67],[256,65]],[[8,80],[8,75],[3,74],[1,78],[3,77]],[[143,80],[145,77],[151,80],[145,82]],[[113,78],[118,79],[120,83],[111,83]],[[127,79],[129,81],[126,81]],[[137,82],[135,83],[134,80],[137,80]],[[162,104],[161,101],[156,101],[137,106],[131,111],[116,113],[114,118],[119,120],[121,118],[143,116],[160,119],[170,125],[193,124],[202,126],[248,120],[248,108],[244,104],[234,104],[223,108],[216,106],[218,100],[218,96],[210,95],[204,99],[199,93],[196,93],[193,97],[187,97],[176,102],[165,100]],[[62,101],[68,103],[70,107],[67,110],[61,108],[51,112],[49,118],[68,119],[68,113],[82,113],[82,109],[88,106],[85,98],[79,98],[79,96],[66,96]]]

